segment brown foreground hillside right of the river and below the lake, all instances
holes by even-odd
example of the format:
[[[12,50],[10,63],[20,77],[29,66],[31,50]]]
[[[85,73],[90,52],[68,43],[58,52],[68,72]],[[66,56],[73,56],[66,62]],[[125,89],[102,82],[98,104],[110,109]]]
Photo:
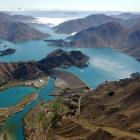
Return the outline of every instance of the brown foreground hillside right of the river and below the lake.
[[[44,133],[37,117],[43,114],[45,118],[51,113],[48,107],[55,100],[40,103],[26,116],[26,139],[36,140],[40,136],[40,140],[45,137],[49,140],[140,140],[139,91],[138,73],[131,78],[101,84],[96,90],[62,89],[65,93],[60,97],[61,107],[65,108],[62,118]],[[33,115],[36,117],[32,119]],[[44,124],[45,120],[42,121]],[[37,131],[38,126],[42,133]]]

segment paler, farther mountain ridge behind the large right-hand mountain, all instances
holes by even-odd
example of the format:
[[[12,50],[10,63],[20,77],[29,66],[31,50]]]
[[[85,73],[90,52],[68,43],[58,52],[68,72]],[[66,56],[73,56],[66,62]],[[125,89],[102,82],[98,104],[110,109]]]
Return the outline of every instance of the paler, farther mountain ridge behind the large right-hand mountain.
[[[122,19],[113,18],[104,14],[90,15],[85,18],[70,20],[61,23],[58,26],[54,27],[54,30],[57,33],[71,34],[113,21],[121,22]]]

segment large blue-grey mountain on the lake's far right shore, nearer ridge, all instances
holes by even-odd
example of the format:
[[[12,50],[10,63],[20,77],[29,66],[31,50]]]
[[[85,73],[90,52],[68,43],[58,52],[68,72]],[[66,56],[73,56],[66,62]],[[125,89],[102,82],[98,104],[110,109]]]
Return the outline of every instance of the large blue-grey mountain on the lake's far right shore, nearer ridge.
[[[72,46],[110,47],[140,60],[140,29],[128,30],[119,23],[111,22],[81,31],[70,39]]]

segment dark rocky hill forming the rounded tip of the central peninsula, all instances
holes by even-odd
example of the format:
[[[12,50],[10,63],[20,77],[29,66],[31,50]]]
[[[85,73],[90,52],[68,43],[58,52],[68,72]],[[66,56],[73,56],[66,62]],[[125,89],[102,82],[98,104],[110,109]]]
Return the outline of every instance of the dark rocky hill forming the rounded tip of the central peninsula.
[[[38,62],[38,67],[46,71],[56,67],[86,67],[88,57],[80,51],[66,52],[61,49],[53,51],[45,59]]]

